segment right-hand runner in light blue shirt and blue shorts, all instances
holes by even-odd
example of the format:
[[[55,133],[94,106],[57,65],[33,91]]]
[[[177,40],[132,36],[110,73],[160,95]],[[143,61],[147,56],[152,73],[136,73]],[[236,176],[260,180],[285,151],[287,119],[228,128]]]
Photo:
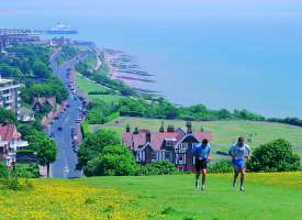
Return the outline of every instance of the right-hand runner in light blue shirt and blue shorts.
[[[236,180],[241,174],[241,191],[244,191],[245,160],[250,157],[250,147],[245,144],[245,139],[241,136],[238,142],[231,146],[228,154],[232,156],[235,173],[233,188],[236,189]]]

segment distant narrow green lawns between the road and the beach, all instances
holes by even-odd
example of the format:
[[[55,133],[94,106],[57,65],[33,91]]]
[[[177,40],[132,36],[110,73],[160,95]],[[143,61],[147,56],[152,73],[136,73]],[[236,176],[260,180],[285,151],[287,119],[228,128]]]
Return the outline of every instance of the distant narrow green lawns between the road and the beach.
[[[78,85],[79,89],[85,94],[88,94],[91,91],[107,91],[108,90],[104,86],[88,79],[87,77],[82,76],[79,73],[76,73],[75,80],[76,80],[76,84]],[[89,100],[101,99],[105,102],[113,102],[113,101],[118,101],[122,97],[118,96],[118,95],[88,95],[88,98],[89,98]]]

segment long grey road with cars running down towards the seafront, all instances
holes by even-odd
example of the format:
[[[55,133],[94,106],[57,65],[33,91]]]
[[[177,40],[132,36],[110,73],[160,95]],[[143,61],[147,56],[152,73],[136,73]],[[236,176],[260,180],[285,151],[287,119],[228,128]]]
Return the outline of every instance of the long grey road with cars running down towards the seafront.
[[[63,65],[57,65],[56,55],[52,56],[51,67],[54,75],[59,77],[66,87],[70,81],[70,78],[67,77],[70,68],[72,69],[75,64],[81,58],[78,57]],[[66,108],[66,111],[60,114],[59,119],[54,120],[54,123],[49,125],[47,131],[48,135],[53,135],[58,147],[56,162],[51,165],[51,177],[53,178],[75,178],[82,175],[81,170],[76,169],[78,158],[71,144],[71,128],[75,128],[79,132],[79,129],[77,129],[79,124],[76,123],[76,120],[81,114],[79,107],[82,106],[82,101],[70,92],[67,100],[68,105],[69,108]]]

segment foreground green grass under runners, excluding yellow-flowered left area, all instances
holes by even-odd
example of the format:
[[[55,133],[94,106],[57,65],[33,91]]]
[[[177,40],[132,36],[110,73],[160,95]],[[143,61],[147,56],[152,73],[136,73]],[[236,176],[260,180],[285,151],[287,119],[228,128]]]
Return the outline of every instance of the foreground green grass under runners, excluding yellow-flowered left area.
[[[206,191],[193,175],[83,178],[80,183],[134,196],[149,219],[288,220],[302,217],[302,173],[248,174],[246,193],[233,191],[232,175],[209,175]]]

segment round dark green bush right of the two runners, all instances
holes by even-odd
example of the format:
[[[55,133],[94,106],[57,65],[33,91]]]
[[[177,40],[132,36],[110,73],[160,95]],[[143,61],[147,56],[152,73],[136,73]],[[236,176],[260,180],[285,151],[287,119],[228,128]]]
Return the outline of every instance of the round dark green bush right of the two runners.
[[[292,153],[291,144],[286,140],[275,140],[257,147],[247,163],[251,172],[298,170],[300,157]]]

